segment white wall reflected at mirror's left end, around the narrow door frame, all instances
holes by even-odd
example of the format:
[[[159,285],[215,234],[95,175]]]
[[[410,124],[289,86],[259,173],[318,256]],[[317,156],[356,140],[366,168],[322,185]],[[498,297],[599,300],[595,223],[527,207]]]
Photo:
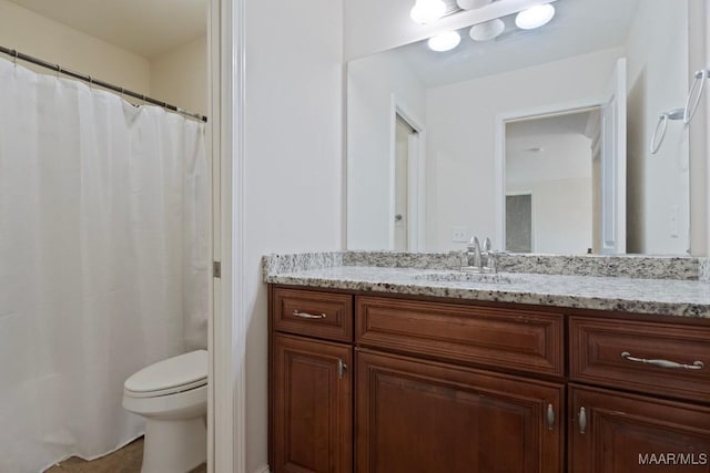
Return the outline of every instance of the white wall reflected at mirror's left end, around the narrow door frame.
[[[396,94],[395,94],[396,91]],[[394,97],[393,97],[394,94]],[[347,247],[393,249],[393,100],[425,125],[426,90],[389,52],[347,65]]]

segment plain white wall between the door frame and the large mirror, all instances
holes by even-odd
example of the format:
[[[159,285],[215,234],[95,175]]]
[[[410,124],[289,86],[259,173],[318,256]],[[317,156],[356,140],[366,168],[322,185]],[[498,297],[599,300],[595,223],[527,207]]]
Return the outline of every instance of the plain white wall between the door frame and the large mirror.
[[[268,253],[343,241],[343,1],[246,0],[247,472],[266,464]]]

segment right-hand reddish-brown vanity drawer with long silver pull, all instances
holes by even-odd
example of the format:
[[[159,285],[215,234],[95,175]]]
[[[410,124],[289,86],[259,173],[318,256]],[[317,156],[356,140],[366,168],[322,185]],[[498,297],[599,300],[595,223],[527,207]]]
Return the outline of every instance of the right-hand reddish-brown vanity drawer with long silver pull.
[[[570,317],[569,332],[576,381],[710,402],[709,327]]]

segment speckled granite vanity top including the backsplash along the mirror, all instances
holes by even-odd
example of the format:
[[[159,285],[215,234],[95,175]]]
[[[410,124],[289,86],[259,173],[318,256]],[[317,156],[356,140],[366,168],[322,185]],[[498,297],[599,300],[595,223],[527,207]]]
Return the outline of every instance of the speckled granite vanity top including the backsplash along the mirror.
[[[396,258],[397,254],[364,251],[317,255],[321,256],[317,258],[303,255],[265,257],[264,281],[316,288],[710,318],[710,285],[698,280],[700,266],[707,265],[707,261],[698,258],[615,258],[633,260],[626,265],[621,263],[623,268],[632,268],[632,265],[637,265],[638,271],[656,275],[656,278],[639,279],[638,277],[565,274],[570,270],[569,266],[572,270],[580,270],[580,266],[575,265],[575,258],[590,257],[532,256],[529,258],[570,259],[566,263],[555,260],[552,261],[555,265],[536,259],[523,263],[517,259],[514,266],[506,266],[506,268],[514,267],[516,271],[501,270],[491,278],[487,275],[478,277],[462,274],[457,270],[458,266],[455,270],[446,270],[446,261],[449,260],[446,255],[450,257],[457,254],[429,256],[427,264],[423,264],[422,259],[413,256],[414,254],[405,258]],[[609,261],[610,257],[591,257],[590,259],[597,258],[604,264],[598,265],[596,269],[590,269],[589,274],[599,275],[613,270],[612,263],[616,261]],[[676,279],[659,279],[658,277],[662,274],[656,265],[657,261],[652,261],[656,259],[662,259],[661,265],[672,266],[676,263],[686,269],[672,270],[672,275],[679,276]],[[280,265],[278,261],[284,264]],[[387,266],[386,263],[390,265]],[[564,274],[528,274],[519,270],[529,267],[530,264],[545,266],[550,271],[551,268],[559,267]],[[556,266],[557,264],[561,266]],[[618,266],[617,270],[621,273]],[[694,276],[692,276],[693,270]]]

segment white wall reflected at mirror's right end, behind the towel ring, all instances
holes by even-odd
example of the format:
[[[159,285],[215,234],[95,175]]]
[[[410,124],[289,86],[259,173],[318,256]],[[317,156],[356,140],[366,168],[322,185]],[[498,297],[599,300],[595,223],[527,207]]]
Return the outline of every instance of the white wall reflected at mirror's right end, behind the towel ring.
[[[690,247],[688,127],[669,122],[659,152],[649,151],[659,114],[686,103],[687,31],[687,0],[642,1],[627,39],[628,253],[683,254]],[[674,237],[672,207],[680,219]]]

